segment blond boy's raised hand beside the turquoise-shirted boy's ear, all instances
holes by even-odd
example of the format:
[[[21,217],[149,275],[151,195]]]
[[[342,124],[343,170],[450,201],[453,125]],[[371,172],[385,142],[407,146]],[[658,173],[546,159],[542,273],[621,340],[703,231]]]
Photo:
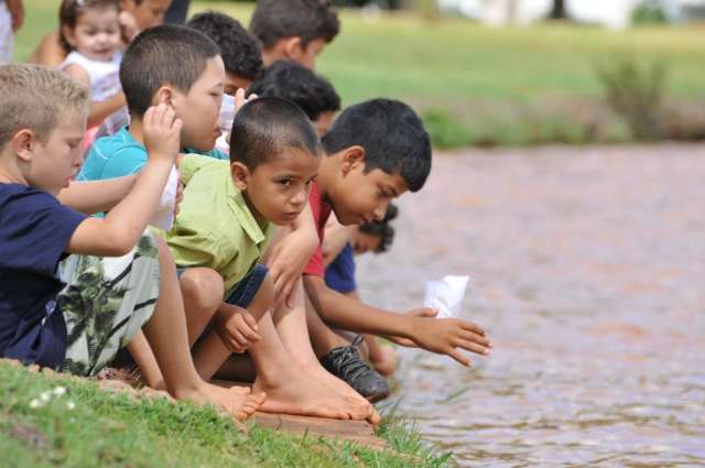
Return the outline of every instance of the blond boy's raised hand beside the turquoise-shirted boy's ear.
[[[165,160],[173,164],[181,148],[182,127],[174,109],[165,104],[152,106],[144,112],[142,123],[142,138],[150,161]]]

